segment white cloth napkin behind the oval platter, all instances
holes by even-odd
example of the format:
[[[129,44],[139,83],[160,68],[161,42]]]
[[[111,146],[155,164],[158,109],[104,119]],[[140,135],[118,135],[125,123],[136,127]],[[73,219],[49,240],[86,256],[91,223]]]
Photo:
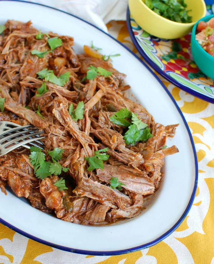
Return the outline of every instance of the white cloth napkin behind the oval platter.
[[[128,0],[28,0],[66,11],[107,32],[111,20],[125,20]]]

